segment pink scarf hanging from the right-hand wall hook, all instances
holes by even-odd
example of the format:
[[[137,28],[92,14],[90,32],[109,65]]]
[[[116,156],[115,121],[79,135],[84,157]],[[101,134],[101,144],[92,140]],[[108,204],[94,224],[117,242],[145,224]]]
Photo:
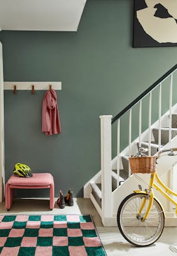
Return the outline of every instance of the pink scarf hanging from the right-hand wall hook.
[[[46,135],[61,132],[57,93],[53,89],[48,90],[43,98],[42,132]]]

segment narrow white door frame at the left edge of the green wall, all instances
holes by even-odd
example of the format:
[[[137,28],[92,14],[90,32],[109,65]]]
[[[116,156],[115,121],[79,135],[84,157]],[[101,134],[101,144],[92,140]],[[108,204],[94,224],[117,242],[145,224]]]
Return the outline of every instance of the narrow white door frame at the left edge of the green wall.
[[[3,46],[0,42],[0,202],[4,199],[4,81]]]

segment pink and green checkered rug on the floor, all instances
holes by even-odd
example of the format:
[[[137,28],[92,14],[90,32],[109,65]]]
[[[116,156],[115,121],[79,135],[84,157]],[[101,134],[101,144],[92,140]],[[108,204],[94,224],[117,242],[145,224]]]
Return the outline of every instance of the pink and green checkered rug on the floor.
[[[0,215],[1,256],[105,256],[90,215]]]

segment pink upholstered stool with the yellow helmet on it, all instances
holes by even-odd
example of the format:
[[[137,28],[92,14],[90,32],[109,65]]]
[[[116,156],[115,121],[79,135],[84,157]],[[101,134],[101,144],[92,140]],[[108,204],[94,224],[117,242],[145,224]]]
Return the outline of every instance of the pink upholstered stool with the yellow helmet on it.
[[[13,195],[15,188],[50,188],[50,209],[54,207],[54,182],[50,173],[33,173],[32,177],[17,177],[11,175],[6,183],[6,209],[9,210],[13,204]]]

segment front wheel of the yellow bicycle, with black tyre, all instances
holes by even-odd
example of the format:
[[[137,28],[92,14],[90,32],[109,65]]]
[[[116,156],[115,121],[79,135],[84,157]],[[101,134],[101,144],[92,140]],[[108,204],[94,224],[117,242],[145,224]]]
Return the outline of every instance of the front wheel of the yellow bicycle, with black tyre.
[[[144,202],[143,210],[139,209]],[[143,221],[149,204],[149,196],[133,193],[120,204],[117,212],[118,228],[124,238],[136,246],[153,244],[161,236],[164,229],[164,211],[155,198],[147,220]]]

